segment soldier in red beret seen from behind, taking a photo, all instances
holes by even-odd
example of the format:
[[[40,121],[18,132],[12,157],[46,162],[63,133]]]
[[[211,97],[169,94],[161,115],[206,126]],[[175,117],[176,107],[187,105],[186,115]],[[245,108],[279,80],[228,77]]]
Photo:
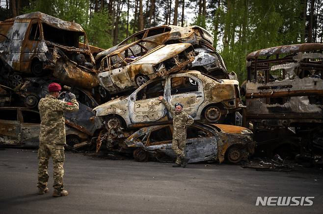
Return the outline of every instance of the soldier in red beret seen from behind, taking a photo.
[[[48,86],[50,92],[45,98],[40,99],[38,104],[40,114],[40,135],[39,135],[39,166],[38,166],[38,184],[39,194],[49,191],[48,182],[48,162],[50,157],[54,165],[54,193],[53,196],[66,196],[68,192],[63,189],[64,175],[64,145],[65,139],[65,118],[64,112],[75,112],[79,110],[79,103],[72,93],[65,95],[65,102],[57,99],[61,86],[57,83],[51,83]]]

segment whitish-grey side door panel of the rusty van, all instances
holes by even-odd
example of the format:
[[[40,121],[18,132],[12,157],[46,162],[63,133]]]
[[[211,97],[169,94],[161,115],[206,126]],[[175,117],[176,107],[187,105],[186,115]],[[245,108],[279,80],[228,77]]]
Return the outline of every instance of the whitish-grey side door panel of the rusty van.
[[[16,71],[20,71],[22,44],[25,39],[29,23],[30,20],[17,19],[13,24],[11,42],[9,46],[9,53],[11,57],[8,59],[8,64],[11,65],[11,67]]]

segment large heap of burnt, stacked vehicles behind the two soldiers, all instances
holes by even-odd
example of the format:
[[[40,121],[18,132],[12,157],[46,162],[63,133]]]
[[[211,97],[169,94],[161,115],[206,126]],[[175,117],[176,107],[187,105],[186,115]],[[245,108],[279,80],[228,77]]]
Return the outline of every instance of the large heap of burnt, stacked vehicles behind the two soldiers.
[[[152,27],[103,50],[88,44],[81,25],[29,13],[0,23],[0,69],[2,144],[38,146],[38,101],[58,82],[80,104],[65,114],[74,148],[173,161],[163,95],[196,120],[188,127],[190,163],[238,163],[255,149],[252,132],[235,126],[242,122],[239,82],[199,26]]]

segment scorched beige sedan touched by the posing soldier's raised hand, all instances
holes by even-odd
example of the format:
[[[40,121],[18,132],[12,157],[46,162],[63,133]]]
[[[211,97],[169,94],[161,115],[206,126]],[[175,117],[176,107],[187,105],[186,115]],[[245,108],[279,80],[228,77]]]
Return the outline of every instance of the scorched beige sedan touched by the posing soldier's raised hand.
[[[223,121],[229,113],[241,108],[237,80],[221,80],[199,71],[187,71],[149,80],[131,95],[115,98],[93,110],[106,124],[129,128],[169,122],[172,117],[158,100],[160,95],[172,105],[182,103],[194,120],[211,123]]]

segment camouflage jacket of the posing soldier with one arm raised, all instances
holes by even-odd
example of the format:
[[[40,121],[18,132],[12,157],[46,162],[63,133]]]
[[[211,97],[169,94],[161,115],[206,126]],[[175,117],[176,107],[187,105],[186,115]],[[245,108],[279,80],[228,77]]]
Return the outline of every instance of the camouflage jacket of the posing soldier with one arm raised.
[[[165,99],[161,102],[166,106],[168,112],[173,116],[173,139],[184,140],[186,139],[186,129],[193,124],[194,119],[183,110],[180,113],[175,112],[175,108],[172,107]]]

